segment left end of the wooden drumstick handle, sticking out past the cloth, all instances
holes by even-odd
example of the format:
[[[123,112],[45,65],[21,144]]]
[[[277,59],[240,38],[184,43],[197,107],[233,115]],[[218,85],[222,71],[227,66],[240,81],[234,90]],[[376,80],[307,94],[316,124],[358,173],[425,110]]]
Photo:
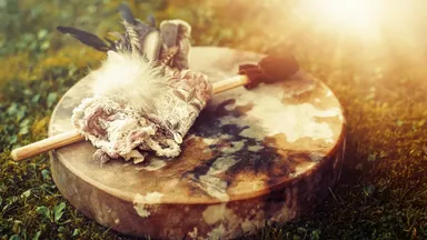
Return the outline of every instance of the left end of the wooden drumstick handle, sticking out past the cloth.
[[[14,161],[21,161],[37,154],[61,148],[75,142],[85,140],[85,137],[81,136],[77,130],[70,130],[62,132],[47,139],[33,142],[31,144],[17,148],[12,151],[11,156]]]

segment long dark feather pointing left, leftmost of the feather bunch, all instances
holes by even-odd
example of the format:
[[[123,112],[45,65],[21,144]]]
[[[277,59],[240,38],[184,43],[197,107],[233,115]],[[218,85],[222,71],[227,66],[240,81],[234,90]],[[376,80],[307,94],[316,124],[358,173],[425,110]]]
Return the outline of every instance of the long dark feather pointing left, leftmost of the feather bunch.
[[[71,37],[76,38],[81,43],[90,46],[99,51],[108,51],[110,49],[105,41],[90,32],[71,27],[58,27],[57,30],[64,34],[71,34]]]

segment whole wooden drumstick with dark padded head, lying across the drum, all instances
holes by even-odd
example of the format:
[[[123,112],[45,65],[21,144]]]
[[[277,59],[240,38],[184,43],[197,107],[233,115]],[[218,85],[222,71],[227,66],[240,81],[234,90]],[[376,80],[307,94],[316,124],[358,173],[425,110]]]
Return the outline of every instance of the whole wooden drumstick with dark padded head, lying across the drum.
[[[251,89],[261,82],[282,81],[296,73],[298,69],[299,66],[292,56],[269,56],[264,58],[257,66],[240,66],[238,76],[212,83],[212,91],[216,94],[240,86]],[[21,161],[82,140],[85,140],[85,137],[77,130],[70,130],[14,149],[11,156],[14,161]]]

